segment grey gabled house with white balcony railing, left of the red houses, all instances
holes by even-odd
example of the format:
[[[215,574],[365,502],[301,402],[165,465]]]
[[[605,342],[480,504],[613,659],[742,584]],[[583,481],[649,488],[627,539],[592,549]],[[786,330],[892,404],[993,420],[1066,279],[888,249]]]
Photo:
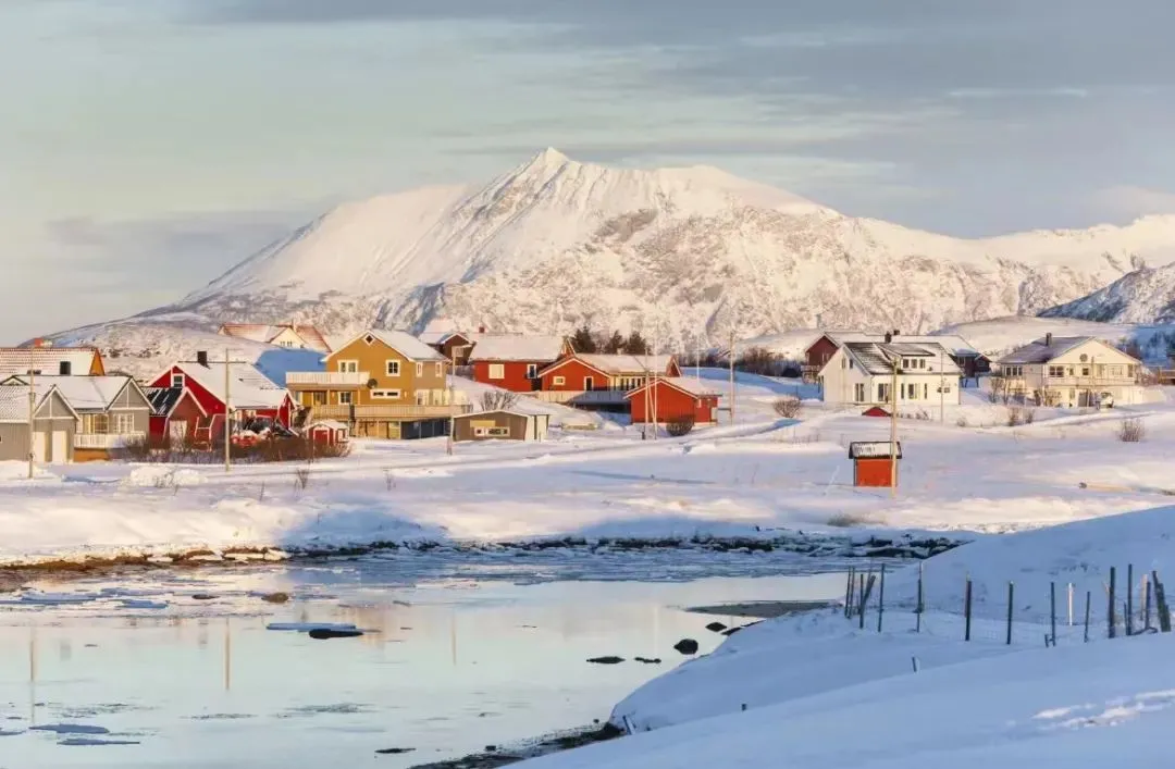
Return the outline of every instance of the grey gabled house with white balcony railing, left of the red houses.
[[[0,382],[4,389],[28,391],[28,377],[18,375]],[[80,417],[74,436],[75,459],[110,459],[127,444],[146,441],[152,404],[142,386],[127,376],[39,376],[38,394],[58,390]]]

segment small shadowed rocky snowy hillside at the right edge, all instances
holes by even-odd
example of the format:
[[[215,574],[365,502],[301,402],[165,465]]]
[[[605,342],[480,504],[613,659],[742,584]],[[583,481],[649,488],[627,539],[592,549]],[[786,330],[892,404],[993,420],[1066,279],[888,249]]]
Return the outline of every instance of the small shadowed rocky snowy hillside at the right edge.
[[[1107,323],[1175,323],[1175,264],[1142,268],[1106,288],[1041,312]]]

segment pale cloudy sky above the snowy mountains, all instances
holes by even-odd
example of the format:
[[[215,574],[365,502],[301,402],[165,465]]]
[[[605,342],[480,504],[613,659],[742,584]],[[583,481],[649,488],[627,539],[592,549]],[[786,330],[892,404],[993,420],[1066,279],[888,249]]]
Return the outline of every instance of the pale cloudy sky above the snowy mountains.
[[[0,340],[545,147],[959,236],[1175,213],[1170,0],[2,0]]]

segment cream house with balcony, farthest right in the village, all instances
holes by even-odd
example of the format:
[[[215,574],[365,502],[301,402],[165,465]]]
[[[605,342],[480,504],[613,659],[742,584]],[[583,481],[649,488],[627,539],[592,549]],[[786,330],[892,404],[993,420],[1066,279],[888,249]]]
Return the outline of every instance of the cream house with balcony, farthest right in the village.
[[[1049,406],[1135,404],[1142,363],[1094,337],[1046,335],[995,362],[993,386]]]

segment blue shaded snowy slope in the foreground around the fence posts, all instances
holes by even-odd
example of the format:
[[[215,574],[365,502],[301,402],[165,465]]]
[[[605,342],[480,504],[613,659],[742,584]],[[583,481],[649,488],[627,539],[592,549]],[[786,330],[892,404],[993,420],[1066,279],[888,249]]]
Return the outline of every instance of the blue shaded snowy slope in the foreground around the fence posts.
[[[1170,578],[1173,535],[1175,507],[1156,507],[966,545],[925,562],[928,589],[959,608],[929,606],[921,632],[901,600],[887,600],[878,632],[875,593],[865,629],[840,609],[758,623],[620,702],[613,722],[633,736],[525,765],[761,767],[784,756],[786,765],[854,769],[1159,765],[1175,726],[1175,636],[1126,638],[1120,619],[1119,638],[1107,640],[1102,582],[1116,566],[1122,618],[1135,567],[1141,628],[1141,574]],[[978,615],[971,641],[958,614],[966,575]],[[916,568],[892,574],[886,594],[912,598],[916,580]],[[1089,642],[1068,625],[1062,599],[1058,641],[1046,648],[1049,582],[1093,594]]]

